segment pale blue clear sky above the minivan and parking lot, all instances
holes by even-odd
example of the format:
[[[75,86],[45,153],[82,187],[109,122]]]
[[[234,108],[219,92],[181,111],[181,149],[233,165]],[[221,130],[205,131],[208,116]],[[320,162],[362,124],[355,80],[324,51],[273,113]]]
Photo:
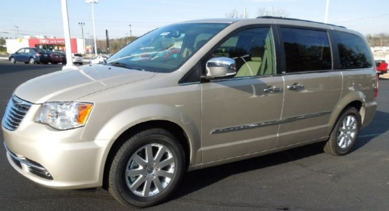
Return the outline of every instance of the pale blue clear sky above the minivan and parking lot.
[[[85,0],[67,0],[71,37],[93,35],[91,4]],[[247,8],[248,18],[257,17],[258,9],[283,9],[289,18],[324,21],[326,0],[99,0],[95,4],[97,39],[140,36],[171,23],[225,18],[236,9]],[[330,0],[328,23],[346,26],[363,34],[389,32],[389,0]],[[0,0],[0,37],[46,35],[63,37],[61,0]],[[23,35],[25,34],[25,35]]]

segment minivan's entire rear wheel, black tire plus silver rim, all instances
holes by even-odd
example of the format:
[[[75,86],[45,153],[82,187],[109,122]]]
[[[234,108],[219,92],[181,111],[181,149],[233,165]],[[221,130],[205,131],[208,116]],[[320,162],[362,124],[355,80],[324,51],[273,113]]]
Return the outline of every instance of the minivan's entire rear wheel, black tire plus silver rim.
[[[324,151],[331,155],[345,155],[356,143],[361,128],[361,115],[354,108],[348,108],[340,114]]]

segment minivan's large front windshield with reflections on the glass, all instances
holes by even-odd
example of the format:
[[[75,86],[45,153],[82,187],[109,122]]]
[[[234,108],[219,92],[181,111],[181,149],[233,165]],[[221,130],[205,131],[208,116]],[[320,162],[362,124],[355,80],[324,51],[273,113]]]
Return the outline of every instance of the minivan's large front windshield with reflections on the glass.
[[[131,42],[109,57],[107,63],[151,72],[173,72],[227,25],[180,23],[161,27]]]

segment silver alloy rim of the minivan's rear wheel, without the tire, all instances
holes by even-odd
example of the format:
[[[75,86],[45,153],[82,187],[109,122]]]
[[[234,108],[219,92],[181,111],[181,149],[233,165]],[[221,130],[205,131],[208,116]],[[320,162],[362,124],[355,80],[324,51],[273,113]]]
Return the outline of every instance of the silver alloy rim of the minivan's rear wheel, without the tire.
[[[356,139],[357,119],[353,115],[346,116],[339,125],[338,146],[340,149],[346,149]]]

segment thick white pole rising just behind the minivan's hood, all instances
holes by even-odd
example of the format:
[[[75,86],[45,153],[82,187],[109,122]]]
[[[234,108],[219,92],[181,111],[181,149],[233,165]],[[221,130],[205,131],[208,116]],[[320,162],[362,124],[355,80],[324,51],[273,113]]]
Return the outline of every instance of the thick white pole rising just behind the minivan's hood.
[[[73,66],[73,58],[72,58],[72,43],[70,42],[70,28],[69,28],[69,17],[68,17],[68,5],[66,0],[61,0],[61,10],[62,10],[62,22],[63,22],[63,32],[65,37],[65,51],[66,51],[66,66],[63,67],[63,69],[66,69],[67,67]]]

